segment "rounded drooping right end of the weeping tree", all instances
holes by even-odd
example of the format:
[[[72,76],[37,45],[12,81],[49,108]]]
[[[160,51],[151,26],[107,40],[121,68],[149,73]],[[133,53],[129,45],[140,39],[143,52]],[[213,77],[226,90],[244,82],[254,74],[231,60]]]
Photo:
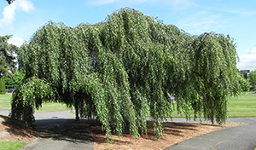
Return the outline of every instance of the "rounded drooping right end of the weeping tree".
[[[195,115],[202,113],[212,122],[216,118],[218,123],[225,123],[227,96],[241,92],[237,81],[236,43],[229,36],[210,32],[195,38],[192,47],[191,75],[196,97],[199,97],[192,101]]]

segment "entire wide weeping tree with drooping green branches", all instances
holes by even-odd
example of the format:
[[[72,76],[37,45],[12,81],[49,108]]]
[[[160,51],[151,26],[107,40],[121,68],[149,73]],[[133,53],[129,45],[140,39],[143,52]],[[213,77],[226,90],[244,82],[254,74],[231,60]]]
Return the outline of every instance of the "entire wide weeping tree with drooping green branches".
[[[31,124],[42,102],[60,101],[77,119],[96,116],[108,137],[147,134],[150,117],[160,138],[175,109],[222,124],[226,96],[239,93],[229,36],[191,36],[127,8],[95,25],[49,22],[21,47],[19,63],[26,80],[13,96],[12,118]]]

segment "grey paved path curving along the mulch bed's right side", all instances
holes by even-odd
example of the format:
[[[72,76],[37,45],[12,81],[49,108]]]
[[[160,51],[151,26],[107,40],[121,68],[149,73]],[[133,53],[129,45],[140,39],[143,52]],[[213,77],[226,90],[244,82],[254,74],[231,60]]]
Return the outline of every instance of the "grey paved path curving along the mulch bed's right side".
[[[253,150],[256,147],[256,118],[228,118],[228,122],[246,125],[198,136],[166,150]]]

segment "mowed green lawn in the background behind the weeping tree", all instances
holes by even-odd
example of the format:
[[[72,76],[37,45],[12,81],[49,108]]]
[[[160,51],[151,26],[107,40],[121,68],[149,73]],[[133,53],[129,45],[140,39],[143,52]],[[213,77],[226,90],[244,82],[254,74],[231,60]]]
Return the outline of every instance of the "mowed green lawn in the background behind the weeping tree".
[[[11,94],[0,95],[0,109],[10,110]],[[63,103],[45,103],[36,112],[58,112],[70,110]],[[172,113],[173,118],[184,117],[184,115]],[[193,117],[193,115],[191,115]],[[230,97],[228,103],[228,117],[256,117],[256,94],[240,95]]]

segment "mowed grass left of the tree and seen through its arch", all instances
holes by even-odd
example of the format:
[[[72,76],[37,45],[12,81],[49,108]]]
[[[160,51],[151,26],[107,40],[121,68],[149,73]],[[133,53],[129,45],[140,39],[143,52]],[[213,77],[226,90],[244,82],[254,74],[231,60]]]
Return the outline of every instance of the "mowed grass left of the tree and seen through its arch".
[[[3,110],[10,110],[11,109],[11,94],[6,95],[0,95],[0,109]],[[70,110],[70,108],[67,108],[65,104],[63,103],[44,103],[41,108],[36,110],[38,113],[46,113],[46,112],[59,112],[59,111],[67,111]]]

